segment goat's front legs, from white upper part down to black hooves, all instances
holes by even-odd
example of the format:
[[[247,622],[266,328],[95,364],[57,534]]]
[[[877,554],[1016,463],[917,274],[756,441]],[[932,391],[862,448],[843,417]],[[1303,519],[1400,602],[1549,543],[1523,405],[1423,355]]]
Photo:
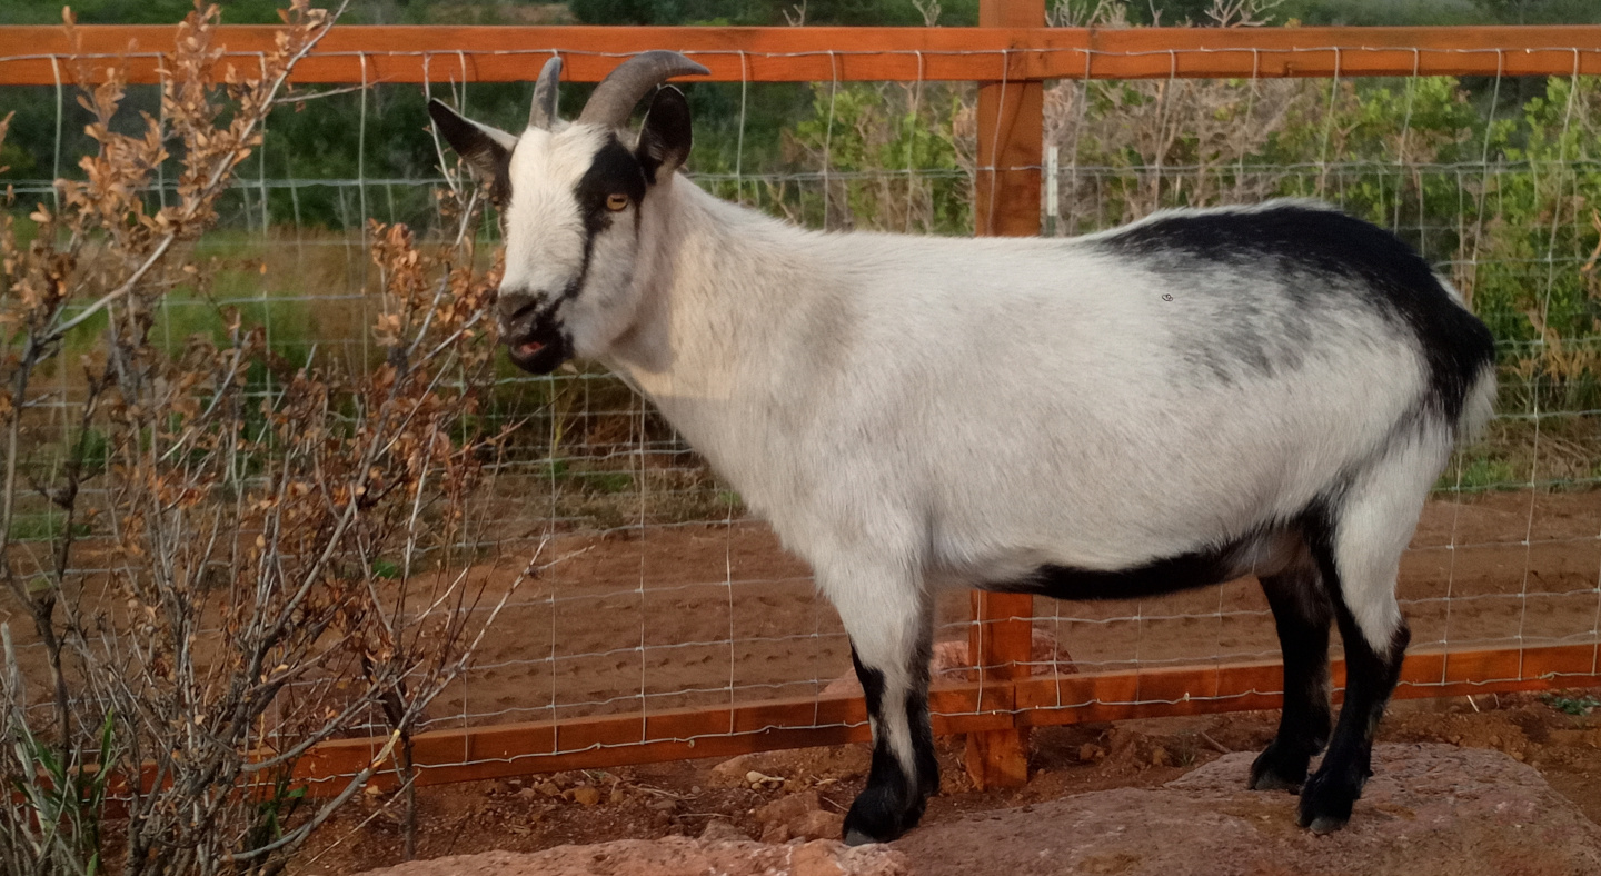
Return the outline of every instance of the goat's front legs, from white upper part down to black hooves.
[[[845,842],[889,842],[917,826],[940,765],[929,727],[929,597],[919,581],[890,575],[825,581],[850,634],[850,658],[873,724],[873,770],[845,815]]]

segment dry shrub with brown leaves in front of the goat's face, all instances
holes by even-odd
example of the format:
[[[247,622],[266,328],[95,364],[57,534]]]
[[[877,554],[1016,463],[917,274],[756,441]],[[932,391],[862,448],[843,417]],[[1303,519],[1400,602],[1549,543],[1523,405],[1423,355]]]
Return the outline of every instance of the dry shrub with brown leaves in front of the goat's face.
[[[461,548],[503,439],[474,426],[495,341],[475,192],[442,194],[453,240],[371,229],[381,364],[285,362],[227,311],[215,336],[152,343],[165,296],[203,288],[194,243],[336,18],[296,0],[277,50],[235,70],[197,10],[134,135],[122,70],[80,66],[99,149],[30,240],[0,227],[0,578],[32,620],[0,626],[6,873],[280,870],[376,772],[410,777],[413,729],[498,612],[474,612]],[[179,197],[152,210],[163,163]],[[35,378],[99,319],[66,405]],[[59,525],[22,541],[29,501]],[[307,801],[296,764],[370,725],[378,754]]]

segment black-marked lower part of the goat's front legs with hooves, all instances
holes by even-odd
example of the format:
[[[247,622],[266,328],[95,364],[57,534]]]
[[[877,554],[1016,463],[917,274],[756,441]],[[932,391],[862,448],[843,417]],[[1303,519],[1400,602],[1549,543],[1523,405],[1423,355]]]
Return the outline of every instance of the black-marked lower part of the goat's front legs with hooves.
[[[850,846],[889,842],[917,826],[929,796],[940,790],[929,727],[929,649],[927,641],[921,642],[909,655],[911,665],[895,673],[863,665],[850,649],[873,717],[868,786],[845,815],[844,839]]]

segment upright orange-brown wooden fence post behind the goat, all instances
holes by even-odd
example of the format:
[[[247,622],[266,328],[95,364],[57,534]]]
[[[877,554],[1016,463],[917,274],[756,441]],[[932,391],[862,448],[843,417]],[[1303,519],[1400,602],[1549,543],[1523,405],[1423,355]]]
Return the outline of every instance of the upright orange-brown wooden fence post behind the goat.
[[[1042,27],[1044,0],[980,0],[980,27]],[[1039,80],[978,85],[978,186],[973,231],[978,235],[1039,234],[1039,167],[1045,127],[1045,83]],[[1034,597],[973,593],[967,653],[981,666],[980,708],[1015,709],[1015,682],[1026,677],[1033,644]],[[1015,713],[1013,713],[1015,714]],[[1028,782],[1028,727],[967,735],[967,775],[983,788]]]

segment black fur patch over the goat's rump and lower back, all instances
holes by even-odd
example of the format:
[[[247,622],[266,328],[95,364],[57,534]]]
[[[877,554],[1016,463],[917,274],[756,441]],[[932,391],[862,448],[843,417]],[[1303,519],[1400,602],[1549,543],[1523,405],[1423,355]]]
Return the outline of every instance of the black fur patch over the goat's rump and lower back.
[[[1388,231],[1345,213],[1286,203],[1255,211],[1166,216],[1105,237],[1098,245],[1117,255],[1154,258],[1178,283],[1196,261],[1278,275],[1311,272],[1359,280],[1356,285],[1369,304],[1417,336],[1430,372],[1425,402],[1451,421],[1460,416],[1479,370],[1495,359],[1489,328],[1457,304],[1428,263]],[[1295,304],[1310,304],[1332,291],[1305,288],[1294,279],[1286,288]]]

